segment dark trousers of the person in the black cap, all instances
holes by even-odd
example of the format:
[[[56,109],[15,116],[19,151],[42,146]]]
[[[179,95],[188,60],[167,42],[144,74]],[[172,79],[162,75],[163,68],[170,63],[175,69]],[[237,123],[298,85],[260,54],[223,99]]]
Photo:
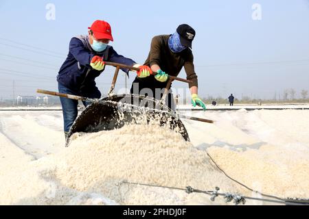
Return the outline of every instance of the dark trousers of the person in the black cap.
[[[160,101],[165,91],[165,86],[166,83],[160,84],[158,83],[158,81],[155,81],[155,83],[151,83],[135,78],[130,93],[148,96],[149,98],[154,98]],[[168,91],[168,95],[165,99],[165,105],[167,105],[173,111],[176,110],[172,90]]]

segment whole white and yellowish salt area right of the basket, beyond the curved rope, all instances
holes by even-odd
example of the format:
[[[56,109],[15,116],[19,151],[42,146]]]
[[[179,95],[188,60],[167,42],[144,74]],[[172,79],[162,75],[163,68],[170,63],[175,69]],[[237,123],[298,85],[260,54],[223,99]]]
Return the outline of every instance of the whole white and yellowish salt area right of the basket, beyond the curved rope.
[[[185,126],[192,143],[227,175],[264,194],[309,198],[308,110],[214,114],[215,125],[185,121]]]

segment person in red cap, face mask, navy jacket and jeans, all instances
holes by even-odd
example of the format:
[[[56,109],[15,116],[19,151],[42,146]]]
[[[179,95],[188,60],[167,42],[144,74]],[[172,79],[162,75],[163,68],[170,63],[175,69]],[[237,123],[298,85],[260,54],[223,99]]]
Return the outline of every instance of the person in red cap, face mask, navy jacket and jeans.
[[[95,78],[104,71],[104,62],[117,62],[127,66],[139,68],[137,77],[148,77],[152,71],[148,66],[141,66],[133,60],[119,55],[108,43],[113,41],[111,25],[106,21],[95,21],[87,36],[77,36],[69,43],[67,60],[62,64],[58,76],[58,89],[60,93],[86,96],[100,99]],[[122,68],[128,74],[129,69]],[[78,101],[60,97],[65,137],[78,116]],[[89,103],[83,102],[85,106]]]

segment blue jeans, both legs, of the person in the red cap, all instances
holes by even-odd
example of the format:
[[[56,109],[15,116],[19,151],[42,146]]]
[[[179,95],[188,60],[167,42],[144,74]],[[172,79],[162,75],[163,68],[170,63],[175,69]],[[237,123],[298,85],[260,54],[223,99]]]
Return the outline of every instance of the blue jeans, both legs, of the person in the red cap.
[[[78,95],[78,96],[85,96],[89,98],[95,98],[100,99],[101,98],[101,92],[98,90],[98,88],[93,89],[93,92],[80,94],[78,92],[74,92],[73,90],[66,88],[65,86],[62,86],[60,83],[58,83],[58,89],[60,93],[63,94],[71,94],[71,95]],[[71,126],[73,125],[74,121],[76,120],[78,116],[78,101],[67,99],[64,97],[60,97],[60,102],[62,105],[62,114],[63,114],[63,121],[64,121],[64,130],[65,132],[69,132],[71,129]],[[85,107],[87,105],[91,104],[86,101],[82,101]]]

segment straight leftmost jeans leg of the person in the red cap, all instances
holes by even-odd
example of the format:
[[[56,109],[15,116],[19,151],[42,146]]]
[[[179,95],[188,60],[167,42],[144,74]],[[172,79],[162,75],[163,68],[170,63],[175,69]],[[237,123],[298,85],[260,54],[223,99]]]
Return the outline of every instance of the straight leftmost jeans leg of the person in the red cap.
[[[69,88],[65,88],[60,83],[58,83],[58,89],[60,93],[76,95],[76,93]],[[78,116],[78,101],[60,97],[60,102],[62,105],[65,138],[67,139],[69,130]]]

